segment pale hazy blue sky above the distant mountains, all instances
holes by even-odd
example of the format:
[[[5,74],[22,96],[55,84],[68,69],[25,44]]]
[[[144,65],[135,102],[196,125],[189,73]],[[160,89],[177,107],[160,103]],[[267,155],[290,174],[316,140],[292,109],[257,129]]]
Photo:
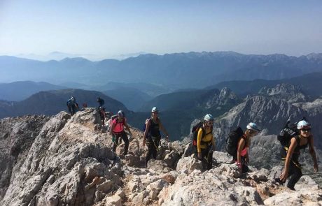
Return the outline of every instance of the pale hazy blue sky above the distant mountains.
[[[0,0],[0,55],[94,60],[191,51],[322,52],[322,1]]]

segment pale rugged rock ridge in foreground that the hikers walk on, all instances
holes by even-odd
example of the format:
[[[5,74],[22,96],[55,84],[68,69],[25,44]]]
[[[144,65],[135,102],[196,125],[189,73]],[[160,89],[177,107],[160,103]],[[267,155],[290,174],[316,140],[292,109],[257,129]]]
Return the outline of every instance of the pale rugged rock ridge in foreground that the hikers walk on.
[[[94,108],[52,117],[0,120],[0,205],[322,205],[322,190],[303,176],[290,191],[276,168],[240,174],[231,157],[214,152],[214,167],[183,142],[164,142],[144,168],[143,133],[131,127],[129,154]]]

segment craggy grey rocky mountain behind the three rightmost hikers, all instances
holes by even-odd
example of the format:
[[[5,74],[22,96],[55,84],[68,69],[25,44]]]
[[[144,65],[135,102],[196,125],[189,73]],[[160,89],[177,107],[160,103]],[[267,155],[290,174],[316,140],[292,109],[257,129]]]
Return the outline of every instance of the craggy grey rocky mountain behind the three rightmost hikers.
[[[313,103],[292,104],[274,96],[253,96],[216,118],[214,134],[218,142],[218,149],[224,149],[225,138],[232,128],[241,126],[246,129],[248,122],[255,122],[265,134],[278,135],[279,131],[290,119],[297,122],[302,117],[307,117],[312,126],[314,134],[314,145],[322,149],[322,128],[319,126],[322,119],[322,100],[316,99]]]

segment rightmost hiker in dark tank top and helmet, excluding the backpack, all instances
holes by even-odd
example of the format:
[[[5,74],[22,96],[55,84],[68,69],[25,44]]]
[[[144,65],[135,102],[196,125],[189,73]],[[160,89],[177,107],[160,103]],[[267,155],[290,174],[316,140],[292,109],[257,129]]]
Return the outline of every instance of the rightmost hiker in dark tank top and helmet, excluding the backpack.
[[[297,123],[297,129],[300,130],[299,135],[295,135],[290,139],[290,146],[283,148],[283,159],[285,159],[284,169],[280,175],[281,182],[286,182],[286,179],[290,177],[288,181],[288,188],[295,190],[294,186],[302,176],[302,168],[298,162],[300,156],[300,149],[304,149],[309,145],[309,153],[314,161],[314,172],[318,172],[318,161],[314,151],[313,135],[311,134],[311,125],[309,122],[302,120]]]

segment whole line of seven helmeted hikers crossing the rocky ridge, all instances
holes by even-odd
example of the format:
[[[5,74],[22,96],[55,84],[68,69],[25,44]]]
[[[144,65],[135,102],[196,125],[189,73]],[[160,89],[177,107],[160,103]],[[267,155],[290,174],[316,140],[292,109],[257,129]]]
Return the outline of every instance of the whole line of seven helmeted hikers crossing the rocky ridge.
[[[100,117],[102,119],[102,124],[104,125],[104,119],[106,119],[106,112],[103,107],[104,100],[102,98],[97,98],[97,103],[99,103]],[[76,98],[71,96],[67,101],[67,106],[71,115],[75,114],[78,104],[76,103]],[[116,152],[116,148],[120,145],[120,140],[124,142],[124,154],[125,156],[129,148],[129,138],[127,133],[132,136],[130,127],[127,124],[127,119],[125,118],[125,112],[122,110],[118,111],[117,115],[113,115],[108,122],[109,133],[112,136],[113,142],[113,152]],[[287,124],[288,125],[288,124]],[[213,163],[213,152],[216,147],[216,139],[213,135],[214,117],[211,114],[204,116],[204,120],[199,122],[193,127],[193,150],[197,159],[202,161],[205,170],[210,170]],[[296,132],[295,132],[296,130]],[[151,110],[151,117],[146,119],[144,124],[144,138],[143,146],[147,146],[145,165],[148,164],[150,159],[157,159],[158,148],[161,140],[162,131],[165,134],[165,138],[169,140],[169,133],[163,126],[160,117],[159,110],[153,107]],[[293,133],[290,133],[292,131]],[[260,133],[260,128],[257,124],[250,122],[246,125],[246,130],[243,131],[241,127],[238,127],[234,131],[231,131],[226,139],[225,149],[228,154],[232,155],[232,161],[237,165],[239,171],[242,173],[249,172],[249,147],[251,138]],[[287,135],[286,135],[287,134]],[[284,136],[287,136],[284,137]],[[289,126],[284,128],[279,135],[279,140],[282,143],[281,156],[284,161],[284,167],[281,171],[281,175],[276,178],[276,182],[284,184],[286,179],[289,177],[288,188],[295,190],[294,186],[297,181],[302,176],[302,168],[298,161],[300,156],[300,149],[304,149],[309,145],[309,153],[314,161],[314,171],[318,171],[318,163],[316,159],[316,153],[314,151],[314,140],[311,134],[311,125],[307,122],[307,119],[302,119],[293,126],[293,130]]]

